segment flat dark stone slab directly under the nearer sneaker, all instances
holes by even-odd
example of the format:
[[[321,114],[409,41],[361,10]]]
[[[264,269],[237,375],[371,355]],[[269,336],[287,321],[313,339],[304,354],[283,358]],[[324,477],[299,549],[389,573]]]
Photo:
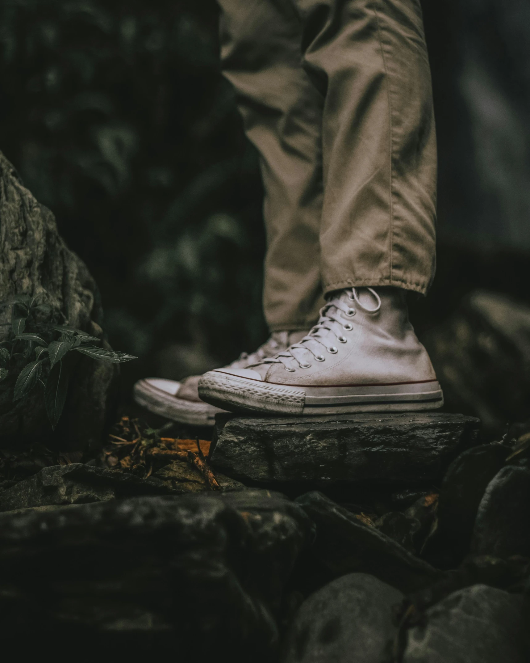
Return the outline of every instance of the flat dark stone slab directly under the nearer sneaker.
[[[405,412],[258,418],[217,415],[214,469],[256,484],[419,484],[440,481],[478,444],[480,420]]]

